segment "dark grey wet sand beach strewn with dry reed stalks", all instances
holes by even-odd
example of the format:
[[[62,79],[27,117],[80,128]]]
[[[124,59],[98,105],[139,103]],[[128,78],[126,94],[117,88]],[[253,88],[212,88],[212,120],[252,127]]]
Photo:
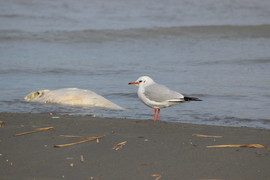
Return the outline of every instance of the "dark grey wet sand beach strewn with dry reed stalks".
[[[269,130],[55,114],[0,113],[0,121],[0,179],[270,179],[269,149],[206,147],[270,147]],[[55,129],[14,136],[43,127]],[[106,136],[56,148],[84,140],[60,135]]]

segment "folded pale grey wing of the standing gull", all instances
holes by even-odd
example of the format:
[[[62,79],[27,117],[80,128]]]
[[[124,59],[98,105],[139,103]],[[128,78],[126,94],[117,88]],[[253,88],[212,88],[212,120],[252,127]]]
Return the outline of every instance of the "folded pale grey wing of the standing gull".
[[[145,87],[144,95],[155,102],[184,101],[184,96],[182,94],[172,91],[160,84],[152,84]]]

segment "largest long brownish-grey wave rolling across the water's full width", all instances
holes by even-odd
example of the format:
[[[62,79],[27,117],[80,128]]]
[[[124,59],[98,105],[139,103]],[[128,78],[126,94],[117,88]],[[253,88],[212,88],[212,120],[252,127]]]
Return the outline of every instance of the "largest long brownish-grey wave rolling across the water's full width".
[[[43,42],[92,42],[102,43],[123,39],[168,38],[174,36],[192,36],[203,34],[206,37],[220,38],[270,38],[270,25],[259,26],[183,26],[154,27],[134,29],[103,29],[26,32],[21,30],[0,30],[2,40],[37,40]]]

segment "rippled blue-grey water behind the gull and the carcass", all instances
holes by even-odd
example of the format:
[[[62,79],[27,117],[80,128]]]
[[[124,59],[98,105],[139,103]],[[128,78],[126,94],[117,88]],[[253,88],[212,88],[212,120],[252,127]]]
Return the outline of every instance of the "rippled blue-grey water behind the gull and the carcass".
[[[0,112],[151,120],[143,75],[203,100],[162,121],[270,129],[270,1],[0,0]],[[126,110],[23,101],[72,87]]]

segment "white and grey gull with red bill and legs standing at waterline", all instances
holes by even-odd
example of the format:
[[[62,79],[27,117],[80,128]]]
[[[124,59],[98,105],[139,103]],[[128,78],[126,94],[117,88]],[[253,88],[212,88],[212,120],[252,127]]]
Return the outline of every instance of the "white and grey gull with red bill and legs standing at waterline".
[[[138,97],[145,105],[154,109],[154,121],[158,121],[161,108],[189,101],[202,101],[196,97],[186,97],[176,91],[172,91],[166,86],[155,83],[148,76],[142,76],[128,84],[139,86]]]

